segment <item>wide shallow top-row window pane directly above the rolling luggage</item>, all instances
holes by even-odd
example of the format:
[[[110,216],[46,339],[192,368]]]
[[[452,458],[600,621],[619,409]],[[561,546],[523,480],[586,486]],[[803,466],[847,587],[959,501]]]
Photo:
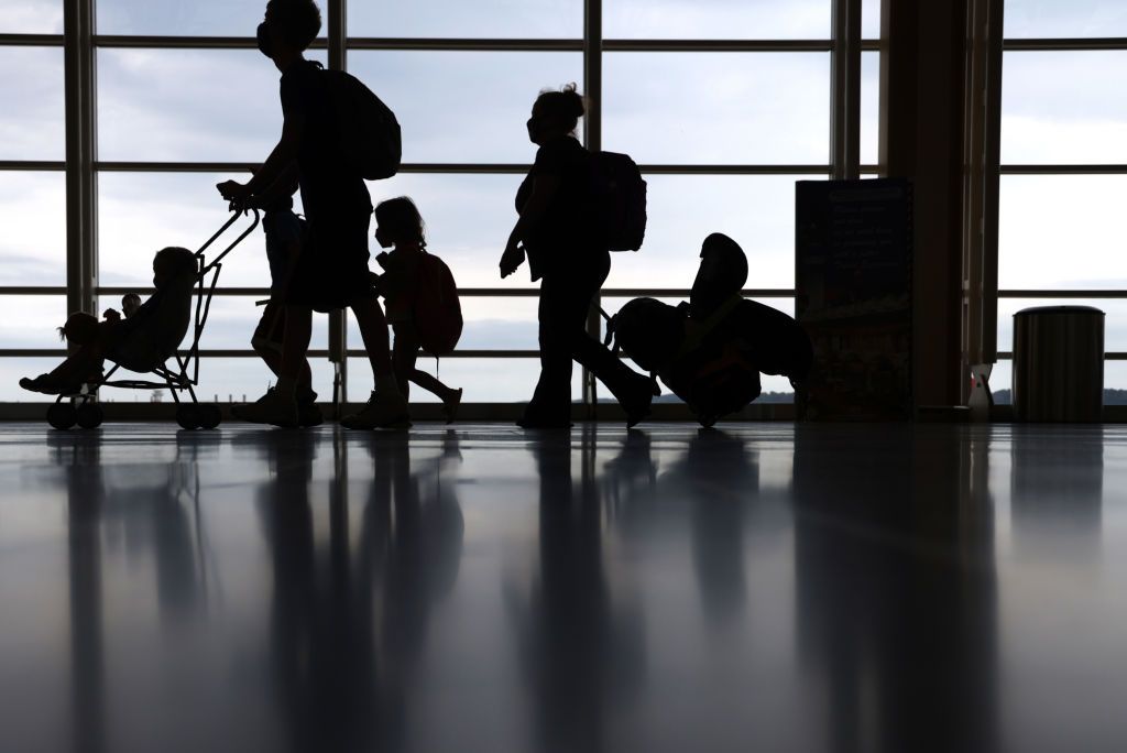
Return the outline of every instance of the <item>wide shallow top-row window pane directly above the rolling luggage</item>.
[[[829,0],[605,0],[609,39],[825,39]]]

